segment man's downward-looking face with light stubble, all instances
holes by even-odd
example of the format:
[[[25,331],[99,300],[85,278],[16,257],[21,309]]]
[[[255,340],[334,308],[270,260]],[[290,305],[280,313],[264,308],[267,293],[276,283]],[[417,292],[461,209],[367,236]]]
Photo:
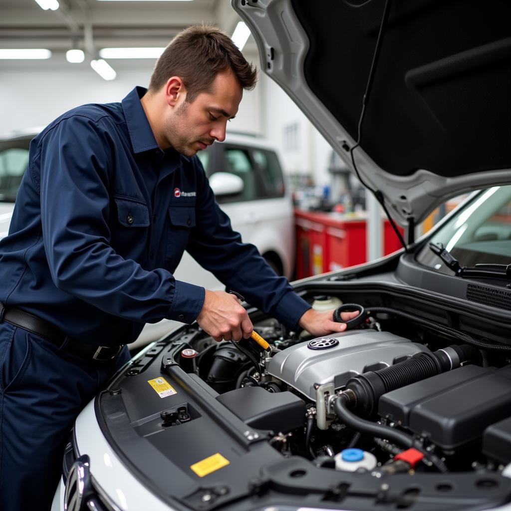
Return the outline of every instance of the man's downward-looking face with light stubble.
[[[165,120],[169,144],[185,156],[193,156],[218,140],[225,140],[227,121],[238,112],[243,88],[234,73],[218,73],[209,92],[194,101],[182,101]]]

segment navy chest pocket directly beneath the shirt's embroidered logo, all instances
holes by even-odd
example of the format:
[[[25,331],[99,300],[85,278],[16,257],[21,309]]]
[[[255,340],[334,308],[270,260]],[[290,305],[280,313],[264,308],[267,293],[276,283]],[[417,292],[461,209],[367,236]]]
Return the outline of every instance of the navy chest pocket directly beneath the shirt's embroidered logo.
[[[183,252],[187,248],[190,231],[195,225],[195,206],[172,204],[169,207],[167,267],[171,272],[174,272],[179,264]]]

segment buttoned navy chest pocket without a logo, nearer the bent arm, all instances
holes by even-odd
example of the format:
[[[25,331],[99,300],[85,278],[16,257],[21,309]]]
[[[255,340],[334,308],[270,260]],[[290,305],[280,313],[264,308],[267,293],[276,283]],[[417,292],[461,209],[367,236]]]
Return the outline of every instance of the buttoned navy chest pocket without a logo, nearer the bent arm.
[[[145,203],[114,197],[111,245],[125,259],[141,262],[149,233],[149,209]]]

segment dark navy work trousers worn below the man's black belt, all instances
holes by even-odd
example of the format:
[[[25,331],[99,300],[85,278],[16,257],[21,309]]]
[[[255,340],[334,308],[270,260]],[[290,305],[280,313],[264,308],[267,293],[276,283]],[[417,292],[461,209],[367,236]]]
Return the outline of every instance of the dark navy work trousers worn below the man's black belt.
[[[69,430],[81,409],[129,360],[85,361],[0,323],[0,509],[50,509]]]

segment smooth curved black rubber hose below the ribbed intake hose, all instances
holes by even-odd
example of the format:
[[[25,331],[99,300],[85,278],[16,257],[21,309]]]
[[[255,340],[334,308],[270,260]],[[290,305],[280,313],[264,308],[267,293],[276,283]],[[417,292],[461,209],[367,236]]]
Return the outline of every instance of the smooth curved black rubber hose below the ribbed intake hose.
[[[438,456],[420,447],[412,436],[389,426],[361,419],[348,409],[349,402],[347,394],[341,394],[334,402],[334,412],[344,424],[347,424],[355,431],[361,431],[377,438],[385,438],[407,449],[414,448],[420,451],[440,472],[448,471],[446,464]]]

